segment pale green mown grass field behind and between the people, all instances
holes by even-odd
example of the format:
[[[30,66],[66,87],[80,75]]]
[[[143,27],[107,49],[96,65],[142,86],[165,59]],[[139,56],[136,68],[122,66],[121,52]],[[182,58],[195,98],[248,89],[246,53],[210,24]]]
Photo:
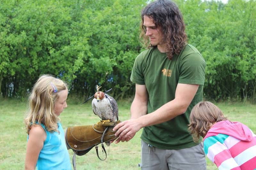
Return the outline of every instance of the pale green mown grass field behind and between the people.
[[[68,101],[69,102],[69,101]],[[131,102],[119,101],[119,119],[126,120],[130,117]],[[256,133],[256,105],[244,103],[216,103],[223,111],[224,115],[231,121],[239,121],[249,126]],[[27,134],[24,129],[23,118],[28,110],[26,102],[18,100],[0,98],[0,169],[24,169],[26,154]],[[90,102],[85,105],[70,104],[60,115],[63,129],[76,125],[91,125],[99,121],[99,117],[92,112]],[[140,163],[140,134],[129,142],[120,142],[106,147],[109,152],[105,161],[97,158],[93,148],[84,156],[76,156],[76,166],[78,170],[138,170]],[[72,150],[68,151],[70,161],[72,161]],[[101,155],[101,154],[100,154]],[[101,155],[104,157],[104,154]],[[215,170],[216,166],[208,159],[207,170]]]

